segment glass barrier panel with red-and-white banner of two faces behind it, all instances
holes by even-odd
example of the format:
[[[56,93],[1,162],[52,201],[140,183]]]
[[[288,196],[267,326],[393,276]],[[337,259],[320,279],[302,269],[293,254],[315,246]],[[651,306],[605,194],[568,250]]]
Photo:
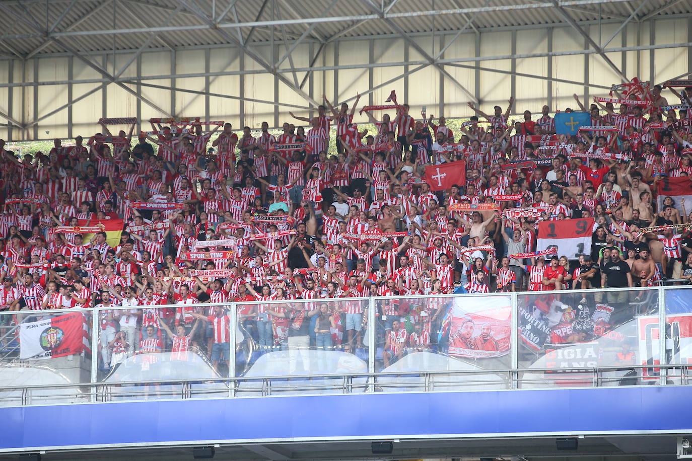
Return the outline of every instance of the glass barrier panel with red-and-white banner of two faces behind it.
[[[509,295],[376,299],[375,305],[375,370],[397,373],[378,378],[382,390],[416,390],[424,380],[437,391],[507,388],[504,375],[473,372],[511,364]],[[468,373],[420,375],[451,370]]]

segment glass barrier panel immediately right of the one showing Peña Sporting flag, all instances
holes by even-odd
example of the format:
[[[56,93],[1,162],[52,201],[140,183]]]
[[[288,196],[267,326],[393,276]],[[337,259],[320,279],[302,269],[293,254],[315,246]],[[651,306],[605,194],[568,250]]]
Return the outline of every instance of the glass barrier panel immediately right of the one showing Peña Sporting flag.
[[[98,380],[106,400],[170,398],[185,384],[197,396],[228,395],[230,305],[98,310]],[[154,382],[117,384],[119,382]]]

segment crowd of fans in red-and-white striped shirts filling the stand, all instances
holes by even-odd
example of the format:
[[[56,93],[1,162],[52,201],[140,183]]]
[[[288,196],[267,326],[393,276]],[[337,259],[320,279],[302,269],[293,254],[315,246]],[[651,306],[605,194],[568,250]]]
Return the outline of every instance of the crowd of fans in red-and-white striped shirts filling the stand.
[[[395,113],[377,118],[366,108],[361,116],[374,133],[354,122],[357,99],[335,108],[325,98],[312,119],[291,113],[295,122],[278,136],[266,122],[259,133],[245,126],[237,135],[230,123],[152,119],[133,147],[135,123],[122,119],[101,120],[86,142],[55,140],[35,156],[18,158],[0,140],[0,310],[104,308],[105,366],[127,353],[193,343],[216,364],[228,359],[228,315],[194,304],[248,302],[240,319],[263,347],[359,348],[367,303],[344,298],[691,279],[692,236],[678,230],[692,215],[672,199],[659,207],[657,198],[662,178],[692,171],[692,87],[671,88],[668,97],[681,104],[671,109],[662,89],[615,88],[616,100],[630,102],[617,109],[583,106],[575,95],[574,110],[590,112],[590,126],[615,129],[572,136],[556,134],[549,106],[537,119],[527,110],[512,120],[513,98],[491,114],[469,104],[477,115],[455,133],[444,117],[417,118],[392,95]],[[129,132],[112,135],[109,124],[123,120]],[[296,127],[299,120],[309,129]],[[466,183],[431,191],[425,167],[457,160],[466,161]],[[520,198],[495,209],[453,207],[503,195]],[[535,212],[516,217],[508,209]],[[579,261],[511,258],[545,250],[536,248],[541,220],[588,217],[592,247]],[[120,241],[111,246],[93,226],[118,219]],[[638,232],[650,225],[666,229]],[[320,301],[261,302],[292,299]],[[146,307],[154,305],[194,306]],[[429,344],[431,323],[441,320],[426,312],[405,330],[402,306],[379,312],[388,318],[385,357],[397,355],[397,344]]]

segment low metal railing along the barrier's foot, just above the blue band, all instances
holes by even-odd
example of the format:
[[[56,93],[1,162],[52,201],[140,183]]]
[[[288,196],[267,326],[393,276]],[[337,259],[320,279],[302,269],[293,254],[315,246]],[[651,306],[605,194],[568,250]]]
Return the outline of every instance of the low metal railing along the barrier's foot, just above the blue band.
[[[590,369],[565,368],[561,372],[561,388],[601,388],[637,386],[643,370],[652,366],[612,366]],[[665,370],[664,386],[687,386],[692,365],[655,366]],[[483,390],[520,390],[554,388],[545,382],[545,375],[554,368],[522,368],[504,370],[447,370],[408,373],[356,373],[344,375],[295,375],[267,377],[179,379],[169,382],[101,382],[37,386],[1,386],[0,406],[29,406],[58,402],[117,402],[120,400],[184,400],[219,397],[268,397],[276,395],[318,395],[387,392],[449,392]],[[617,373],[626,372],[626,375]],[[571,373],[567,374],[567,373]],[[609,375],[609,373],[611,375]],[[473,379],[482,375],[480,379]],[[530,375],[531,377],[527,377]],[[291,386],[277,386],[290,382]],[[534,386],[534,384],[537,384]],[[165,387],[164,387],[165,386]],[[37,403],[38,402],[38,403]],[[51,403],[55,404],[55,402]]]

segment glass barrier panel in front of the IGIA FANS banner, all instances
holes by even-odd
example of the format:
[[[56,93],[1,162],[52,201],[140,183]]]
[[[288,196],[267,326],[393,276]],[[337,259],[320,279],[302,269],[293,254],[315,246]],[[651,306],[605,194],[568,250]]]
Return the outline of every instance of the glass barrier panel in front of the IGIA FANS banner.
[[[517,307],[519,368],[536,368],[520,373],[520,387],[632,386],[658,379],[659,368],[623,368],[660,363],[653,344],[655,288],[520,293]]]

